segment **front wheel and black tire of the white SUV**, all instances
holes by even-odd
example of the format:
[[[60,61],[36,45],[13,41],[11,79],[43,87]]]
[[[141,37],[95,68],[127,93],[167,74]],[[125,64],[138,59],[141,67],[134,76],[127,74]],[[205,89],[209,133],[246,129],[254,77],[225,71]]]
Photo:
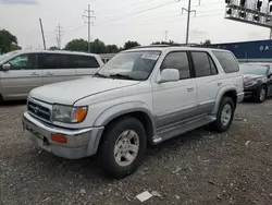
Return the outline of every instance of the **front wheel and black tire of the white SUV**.
[[[132,145],[134,150],[131,150]],[[116,179],[125,178],[143,162],[146,148],[146,131],[140,121],[132,117],[120,118],[106,128],[99,148],[101,166],[108,174]],[[127,158],[134,159],[129,161]]]

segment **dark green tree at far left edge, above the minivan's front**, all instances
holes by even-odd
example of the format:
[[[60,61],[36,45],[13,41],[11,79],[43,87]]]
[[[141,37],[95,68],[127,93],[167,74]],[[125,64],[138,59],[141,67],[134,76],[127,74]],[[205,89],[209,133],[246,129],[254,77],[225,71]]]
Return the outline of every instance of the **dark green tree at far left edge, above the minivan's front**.
[[[18,49],[22,48],[17,45],[16,36],[12,35],[7,29],[0,29],[0,52],[5,53]]]

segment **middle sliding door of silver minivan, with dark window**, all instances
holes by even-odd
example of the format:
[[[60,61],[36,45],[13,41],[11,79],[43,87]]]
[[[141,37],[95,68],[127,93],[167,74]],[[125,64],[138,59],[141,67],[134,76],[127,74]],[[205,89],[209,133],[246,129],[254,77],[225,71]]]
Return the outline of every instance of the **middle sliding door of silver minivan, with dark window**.
[[[40,55],[42,85],[77,79],[74,68],[69,67],[69,56],[62,53]]]

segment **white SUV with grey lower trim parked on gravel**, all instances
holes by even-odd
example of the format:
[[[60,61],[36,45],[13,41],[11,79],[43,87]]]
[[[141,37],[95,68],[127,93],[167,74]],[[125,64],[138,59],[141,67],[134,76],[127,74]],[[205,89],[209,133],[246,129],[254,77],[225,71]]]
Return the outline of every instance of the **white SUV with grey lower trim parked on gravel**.
[[[100,155],[123,178],[158,144],[213,123],[220,132],[244,98],[232,52],[144,47],[116,55],[92,77],[30,92],[23,124],[39,147],[70,159]]]

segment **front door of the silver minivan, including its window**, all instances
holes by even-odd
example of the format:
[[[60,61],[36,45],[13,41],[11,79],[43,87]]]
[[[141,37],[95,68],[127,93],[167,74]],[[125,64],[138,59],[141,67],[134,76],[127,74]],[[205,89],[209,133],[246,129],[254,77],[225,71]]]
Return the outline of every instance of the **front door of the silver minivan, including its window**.
[[[11,64],[11,70],[0,71],[4,99],[24,99],[33,88],[41,85],[38,53],[21,55],[7,63]]]

